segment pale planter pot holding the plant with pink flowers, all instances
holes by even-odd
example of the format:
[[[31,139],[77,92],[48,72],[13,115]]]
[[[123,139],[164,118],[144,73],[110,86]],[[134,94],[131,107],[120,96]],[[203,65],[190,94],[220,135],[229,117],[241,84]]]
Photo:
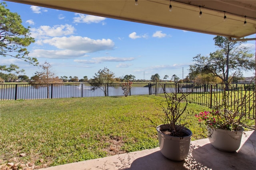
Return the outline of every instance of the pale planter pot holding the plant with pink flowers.
[[[226,152],[234,152],[240,147],[244,131],[243,127],[239,128],[239,131],[228,131],[223,129],[212,129],[207,126],[208,139],[215,148]]]

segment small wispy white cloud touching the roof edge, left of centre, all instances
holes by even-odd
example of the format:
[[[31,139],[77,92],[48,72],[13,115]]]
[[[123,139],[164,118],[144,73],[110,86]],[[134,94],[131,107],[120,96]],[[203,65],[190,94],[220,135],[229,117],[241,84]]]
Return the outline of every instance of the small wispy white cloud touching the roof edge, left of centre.
[[[75,13],[75,16],[78,16],[73,18],[75,23],[99,23],[106,19],[104,17],[79,14],[79,13]],[[102,23],[102,24],[105,25],[106,23]]]

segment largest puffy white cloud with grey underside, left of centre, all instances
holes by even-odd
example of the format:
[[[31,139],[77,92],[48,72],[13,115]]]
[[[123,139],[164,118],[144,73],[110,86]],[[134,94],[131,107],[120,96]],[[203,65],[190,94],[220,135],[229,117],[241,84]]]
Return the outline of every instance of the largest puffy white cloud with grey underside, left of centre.
[[[54,37],[52,39],[45,39],[42,42],[53,45],[58,49],[86,51],[86,53],[110,50],[114,47],[114,42],[111,39],[90,39],[80,36]]]

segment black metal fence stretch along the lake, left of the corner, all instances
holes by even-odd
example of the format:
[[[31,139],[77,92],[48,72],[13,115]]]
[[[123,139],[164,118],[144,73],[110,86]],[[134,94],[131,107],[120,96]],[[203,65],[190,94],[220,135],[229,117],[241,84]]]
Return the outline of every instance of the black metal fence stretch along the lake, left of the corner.
[[[0,100],[124,96],[121,86],[122,83],[0,84]],[[134,83],[129,95],[154,94],[151,92],[152,86],[150,83]]]

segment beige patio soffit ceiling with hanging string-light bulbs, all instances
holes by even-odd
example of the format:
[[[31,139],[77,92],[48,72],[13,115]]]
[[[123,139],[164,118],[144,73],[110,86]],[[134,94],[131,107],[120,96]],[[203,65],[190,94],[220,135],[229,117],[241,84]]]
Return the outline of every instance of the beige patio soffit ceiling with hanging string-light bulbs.
[[[137,6],[135,0],[8,1],[233,38],[256,32],[256,0],[138,0]]]

